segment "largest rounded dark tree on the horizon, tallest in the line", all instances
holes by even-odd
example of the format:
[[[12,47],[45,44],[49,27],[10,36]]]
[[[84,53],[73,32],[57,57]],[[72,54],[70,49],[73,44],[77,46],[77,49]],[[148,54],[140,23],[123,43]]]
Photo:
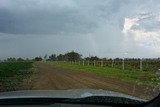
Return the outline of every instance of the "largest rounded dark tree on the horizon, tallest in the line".
[[[68,61],[76,61],[76,60],[80,60],[81,59],[81,56],[79,53],[76,53],[74,51],[72,52],[68,52],[65,54],[65,58],[68,60]]]

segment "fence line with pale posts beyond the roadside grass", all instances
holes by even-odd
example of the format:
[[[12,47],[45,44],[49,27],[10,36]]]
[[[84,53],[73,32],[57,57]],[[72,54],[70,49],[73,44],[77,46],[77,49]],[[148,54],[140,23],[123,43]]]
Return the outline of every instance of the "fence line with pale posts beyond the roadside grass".
[[[83,65],[83,66],[99,66],[99,67],[113,67],[122,70],[140,70],[147,71],[148,69],[157,70],[160,68],[160,61],[145,61],[145,60],[107,60],[107,61],[89,61],[79,60],[70,61],[71,64]]]

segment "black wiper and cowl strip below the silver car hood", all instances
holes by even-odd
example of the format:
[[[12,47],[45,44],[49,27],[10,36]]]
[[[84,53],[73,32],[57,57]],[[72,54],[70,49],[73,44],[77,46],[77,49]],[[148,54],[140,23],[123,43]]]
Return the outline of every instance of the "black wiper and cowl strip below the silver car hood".
[[[140,105],[145,103],[135,99],[113,96],[90,96],[85,98],[9,98],[0,99],[0,105],[21,105],[21,104],[54,104],[54,103],[74,103],[74,104],[104,104],[104,105]]]

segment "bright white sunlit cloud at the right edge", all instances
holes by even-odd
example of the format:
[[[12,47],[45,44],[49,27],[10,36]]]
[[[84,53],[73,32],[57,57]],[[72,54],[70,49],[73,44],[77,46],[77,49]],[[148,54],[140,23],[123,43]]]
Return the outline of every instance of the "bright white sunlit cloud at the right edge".
[[[152,22],[160,23],[159,15],[153,13],[141,13],[136,17],[125,18],[122,32],[128,39],[148,49],[160,49],[160,29]]]

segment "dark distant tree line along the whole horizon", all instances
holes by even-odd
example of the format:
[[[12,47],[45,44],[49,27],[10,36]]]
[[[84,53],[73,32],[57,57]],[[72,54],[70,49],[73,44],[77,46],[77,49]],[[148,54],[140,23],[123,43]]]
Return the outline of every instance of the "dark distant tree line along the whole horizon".
[[[85,57],[82,58],[82,55],[78,52],[75,51],[71,51],[71,52],[67,52],[65,54],[51,54],[51,55],[45,55],[44,57],[41,56],[37,56],[33,59],[23,59],[23,58],[7,58],[4,61],[78,61],[78,60],[87,60],[87,61],[111,61],[111,60],[115,60],[115,61],[122,61],[123,58],[99,58],[98,56],[89,56],[89,57]],[[140,58],[125,58],[126,61],[137,61],[140,60]],[[145,61],[150,61],[150,60],[154,60],[160,61],[160,58],[143,58],[142,60]]]

